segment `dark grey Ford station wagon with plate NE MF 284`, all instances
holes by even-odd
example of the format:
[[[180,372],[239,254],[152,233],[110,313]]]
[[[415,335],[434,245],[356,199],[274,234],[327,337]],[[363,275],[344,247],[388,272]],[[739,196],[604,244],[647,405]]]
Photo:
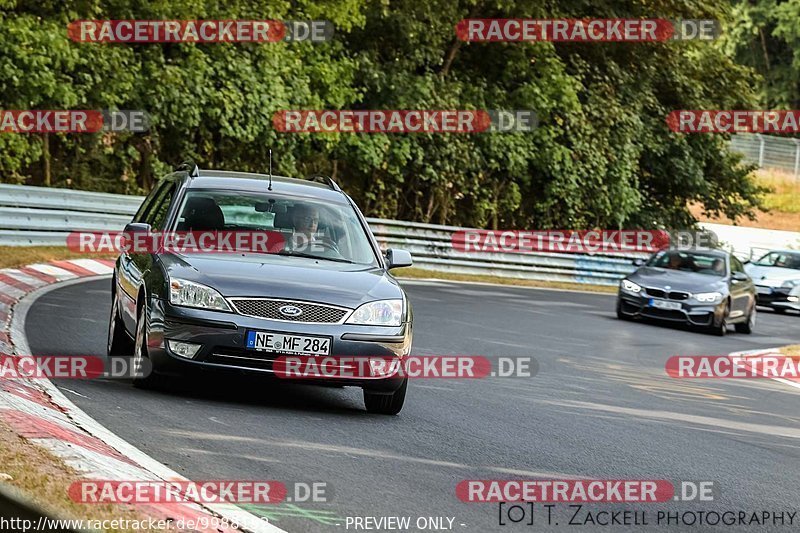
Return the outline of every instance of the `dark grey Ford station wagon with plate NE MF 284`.
[[[116,262],[109,355],[133,353],[152,372],[137,386],[169,386],[193,371],[274,377],[276,358],[409,355],[412,312],[389,274],[411,255],[381,253],[364,216],[324,183],[186,165],[163,178],[126,226],[154,232],[271,232],[275,253],[129,251]],[[311,250],[311,251],[309,251]],[[370,412],[398,413],[402,375],[326,378],[358,386]]]

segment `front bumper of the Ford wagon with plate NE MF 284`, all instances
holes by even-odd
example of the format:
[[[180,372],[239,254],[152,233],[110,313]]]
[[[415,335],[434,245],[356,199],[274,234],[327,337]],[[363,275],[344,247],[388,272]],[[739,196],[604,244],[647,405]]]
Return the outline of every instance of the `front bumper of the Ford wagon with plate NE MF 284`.
[[[245,334],[248,330],[330,337],[330,355],[334,357],[400,358],[409,355],[412,342],[411,323],[399,327],[303,324],[177,307],[161,299],[152,301],[148,322],[148,355],[153,368],[159,373],[171,375],[233,372],[275,377],[273,362],[281,354],[247,349]],[[167,340],[199,343],[202,348],[193,358],[188,359],[173,353],[166,343]],[[275,379],[292,381],[277,377]],[[402,385],[403,378],[303,378],[297,382],[349,385],[374,392],[393,392]]]

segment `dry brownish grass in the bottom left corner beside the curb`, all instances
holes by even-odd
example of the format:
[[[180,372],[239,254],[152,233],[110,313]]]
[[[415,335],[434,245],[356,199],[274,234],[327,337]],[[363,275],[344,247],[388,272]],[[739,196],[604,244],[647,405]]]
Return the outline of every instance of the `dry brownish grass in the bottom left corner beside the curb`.
[[[3,422],[0,422],[0,474],[11,476],[11,480],[0,483],[16,488],[28,501],[54,513],[58,518],[85,521],[147,519],[134,508],[124,505],[90,505],[72,501],[67,489],[73,482],[80,481],[81,476],[46,449],[18,436]]]

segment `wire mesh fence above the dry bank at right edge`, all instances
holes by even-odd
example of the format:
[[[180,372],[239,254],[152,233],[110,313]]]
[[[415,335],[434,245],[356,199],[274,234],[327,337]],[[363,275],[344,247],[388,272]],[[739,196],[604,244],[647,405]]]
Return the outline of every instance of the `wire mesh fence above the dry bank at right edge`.
[[[738,133],[731,136],[731,150],[744,154],[745,161],[759,168],[779,170],[800,178],[800,139]]]

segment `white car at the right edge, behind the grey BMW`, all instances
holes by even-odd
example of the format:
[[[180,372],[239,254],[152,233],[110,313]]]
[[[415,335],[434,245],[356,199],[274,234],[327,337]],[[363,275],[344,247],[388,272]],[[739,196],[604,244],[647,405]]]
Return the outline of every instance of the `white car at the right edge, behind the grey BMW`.
[[[744,268],[756,284],[758,305],[800,311],[800,251],[773,250]]]

